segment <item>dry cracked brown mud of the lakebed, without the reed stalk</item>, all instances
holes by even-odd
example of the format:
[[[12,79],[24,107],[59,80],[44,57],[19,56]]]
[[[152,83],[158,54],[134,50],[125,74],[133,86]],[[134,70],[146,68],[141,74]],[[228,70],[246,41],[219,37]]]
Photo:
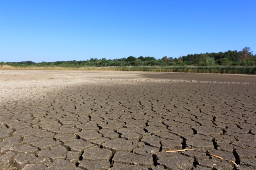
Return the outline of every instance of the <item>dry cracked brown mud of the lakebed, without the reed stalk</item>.
[[[3,170],[256,169],[256,76],[0,70],[0,90]]]

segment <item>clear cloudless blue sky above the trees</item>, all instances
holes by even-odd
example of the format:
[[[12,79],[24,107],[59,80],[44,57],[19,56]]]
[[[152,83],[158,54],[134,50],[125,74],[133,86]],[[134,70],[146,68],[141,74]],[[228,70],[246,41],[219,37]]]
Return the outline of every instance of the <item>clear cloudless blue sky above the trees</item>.
[[[256,53],[255,0],[0,0],[0,61]]]

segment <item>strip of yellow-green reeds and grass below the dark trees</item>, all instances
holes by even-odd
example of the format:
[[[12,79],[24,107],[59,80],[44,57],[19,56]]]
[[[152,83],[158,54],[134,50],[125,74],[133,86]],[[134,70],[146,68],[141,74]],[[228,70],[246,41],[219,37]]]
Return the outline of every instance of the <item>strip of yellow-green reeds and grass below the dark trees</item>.
[[[220,74],[256,74],[256,66],[127,66],[127,67],[14,67],[0,65],[0,69],[32,70],[111,70],[145,72],[182,72],[182,73],[220,73]]]

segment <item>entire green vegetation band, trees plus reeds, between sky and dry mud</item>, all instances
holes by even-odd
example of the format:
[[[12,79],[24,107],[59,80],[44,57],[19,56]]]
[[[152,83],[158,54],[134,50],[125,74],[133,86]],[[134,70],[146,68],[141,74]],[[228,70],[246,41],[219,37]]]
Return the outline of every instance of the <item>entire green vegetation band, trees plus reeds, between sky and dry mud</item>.
[[[38,69],[38,70],[111,70],[182,73],[220,73],[256,74],[256,55],[249,47],[242,51],[189,54],[179,58],[164,56],[133,56],[121,59],[93,59],[85,61],[40,62],[0,62],[0,69]]]

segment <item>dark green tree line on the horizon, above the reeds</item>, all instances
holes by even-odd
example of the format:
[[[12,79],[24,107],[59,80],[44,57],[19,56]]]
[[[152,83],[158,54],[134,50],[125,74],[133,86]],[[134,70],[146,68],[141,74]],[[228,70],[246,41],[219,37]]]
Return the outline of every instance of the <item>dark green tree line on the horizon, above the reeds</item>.
[[[108,67],[108,66],[255,66],[256,54],[252,54],[249,47],[243,48],[241,51],[226,51],[218,53],[204,53],[204,54],[189,54],[187,56],[180,57],[167,57],[164,56],[161,59],[154,57],[138,58],[129,56],[121,59],[109,59],[106,58],[84,61],[55,61],[55,62],[40,62],[22,61],[22,62],[0,62],[0,65],[10,65],[19,67]]]

